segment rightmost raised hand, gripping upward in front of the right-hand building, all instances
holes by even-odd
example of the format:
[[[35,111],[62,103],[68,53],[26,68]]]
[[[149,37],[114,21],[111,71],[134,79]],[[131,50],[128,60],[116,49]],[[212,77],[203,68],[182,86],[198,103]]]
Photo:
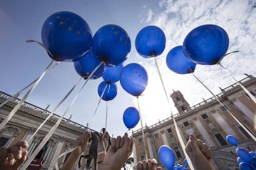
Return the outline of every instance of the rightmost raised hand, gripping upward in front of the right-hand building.
[[[195,169],[214,170],[210,159],[212,158],[211,149],[202,140],[197,139],[194,134],[189,134],[189,141],[186,145],[186,152]]]

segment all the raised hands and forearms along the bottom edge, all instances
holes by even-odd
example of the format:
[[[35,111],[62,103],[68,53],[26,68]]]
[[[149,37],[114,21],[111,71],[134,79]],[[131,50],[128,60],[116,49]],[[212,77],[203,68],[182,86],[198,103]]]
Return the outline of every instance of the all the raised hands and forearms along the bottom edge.
[[[90,139],[90,132],[85,132],[82,136],[78,137],[75,141],[75,150],[70,153],[69,158],[61,167],[61,170],[73,169],[79,156],[86,150],[88,141]],[[97,164],[98,170],[115,170],[121,169],[126,163],[127,159],[132,153],[133,138],[129,137],[127,133],[124,136],[117,136],[111,140],[111,146],[107,150],[106,147],[109,143],[109,134],[105,132],[98,137],[97,148]],[[11,147],[0,147],[0,169],[16,170],[19,169],[26,160],[28,148],[27,141],[19,141],[17,144]],[[189,155],[190,160],[195,169],[214,169],[210,162],[212,153],[207,144],[202,140],[197,139],[194,134],[189,135],[189,141],[186,145],[186,152]],[[157,167],[158,163],[155,159],[143,160],[137,163],[138,170],[160,170],[161,167]]]

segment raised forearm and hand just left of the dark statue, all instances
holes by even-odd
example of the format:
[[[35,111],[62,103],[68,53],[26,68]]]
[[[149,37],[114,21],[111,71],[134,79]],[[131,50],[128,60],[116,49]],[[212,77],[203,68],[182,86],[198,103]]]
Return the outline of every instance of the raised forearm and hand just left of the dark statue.
[[[79,156],[87,149],[88,141],[91,137],[91,133],[86,131],[82,136],[75,140],[74,148],[76,148],[70,153],[69,158],[67,158],[61,170],[70,170],[74,168],[75,162],[78,160]]]

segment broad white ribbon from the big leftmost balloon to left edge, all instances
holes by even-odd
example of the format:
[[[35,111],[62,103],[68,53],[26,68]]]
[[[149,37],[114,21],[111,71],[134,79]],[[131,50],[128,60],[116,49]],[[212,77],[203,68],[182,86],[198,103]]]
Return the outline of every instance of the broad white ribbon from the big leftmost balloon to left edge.
[[[37,84],[41,81],[41,79],[43,78],[43,76],[45,76],[48,68],[51,66],[51,64],[53,63],[54,60],[51,60],[51,62],[49,63],[48,67],[46,67],[45,71],[43,71],[43,73],[41,74],[41,76],[36,79],[35,83],[33,84],[33,86],[29,89],[29,91],[23,96],[23,98],[20,100],[19,103],[17,103],[17,105],[12,109],[12,111],[9,113],[8,116],[6,116],[6,118],[2,121],[2,123],[0,124],[0,131],[2,130],[2,128],[4,128],[4,126],[6,126],[6,124],[8,123],[8,121],[12,118],[12,116],[14,116],[14,114],[16,113],[17,110],[19,110],[19,108],[21,107],[21,105],[23,104],[23,102],[25,102],[25,100],[27,99],[28,95],[30,95],[32,93],[32,91],[35,89],[35,87],[37,86]]]

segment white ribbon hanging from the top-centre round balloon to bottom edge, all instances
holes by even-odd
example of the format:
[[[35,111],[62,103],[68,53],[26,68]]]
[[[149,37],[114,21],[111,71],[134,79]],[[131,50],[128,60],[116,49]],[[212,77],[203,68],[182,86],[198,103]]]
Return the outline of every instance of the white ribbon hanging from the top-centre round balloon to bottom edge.
[[[171,110],[171,103],[169,102],[169,98],[168,98],[166,89],[165,89],[165,87],[164,87],[163,78],[162,78],[162,76],[161,76],[160,69],[159,69],[158,64],[157,64],[157,62],[156,62],[156,57],[153,57],[153,58],[154,58],[154,60],[155,60],[156,68],[157,68],[157,70],[158,70],[158,75],[159,75],[159,77],[160,77],[161,84],[162,84],[162,86],[163,86],[164,93],[165,93],[166,99],[167,99],[167,101],[168,101],[168,103],[169,103],[169,108],[170,108],[170,110]],[[178,139],[179,139],[179,143],[181,144],[181,148],[182,148],[182,150],[183,150],[183,152],[184,152],[184,154],[185,154],[185,157],[187,158],[187,163],[189,164],[190,169],[191,169],[191,170],[194,170],[194,166],[193,166],[193,164],[192,164],[192,161],[190,160],[189,155],[187,155],[186,147],[185,147],[184,142],[183,142],[183,140],[182,140],[181,132],[179,132],[179,128],[177,127],[177,123],[176,123],[176,120],[175,120],[175,118],[174,118],[174,116],[173,116],[173,111],[172,111],[172,110],[171,110],[171,117],[173,118],[173,123],[174,123],[174,127],[175,127],[175,131],[176,131],[177,137],[178,137]]]

